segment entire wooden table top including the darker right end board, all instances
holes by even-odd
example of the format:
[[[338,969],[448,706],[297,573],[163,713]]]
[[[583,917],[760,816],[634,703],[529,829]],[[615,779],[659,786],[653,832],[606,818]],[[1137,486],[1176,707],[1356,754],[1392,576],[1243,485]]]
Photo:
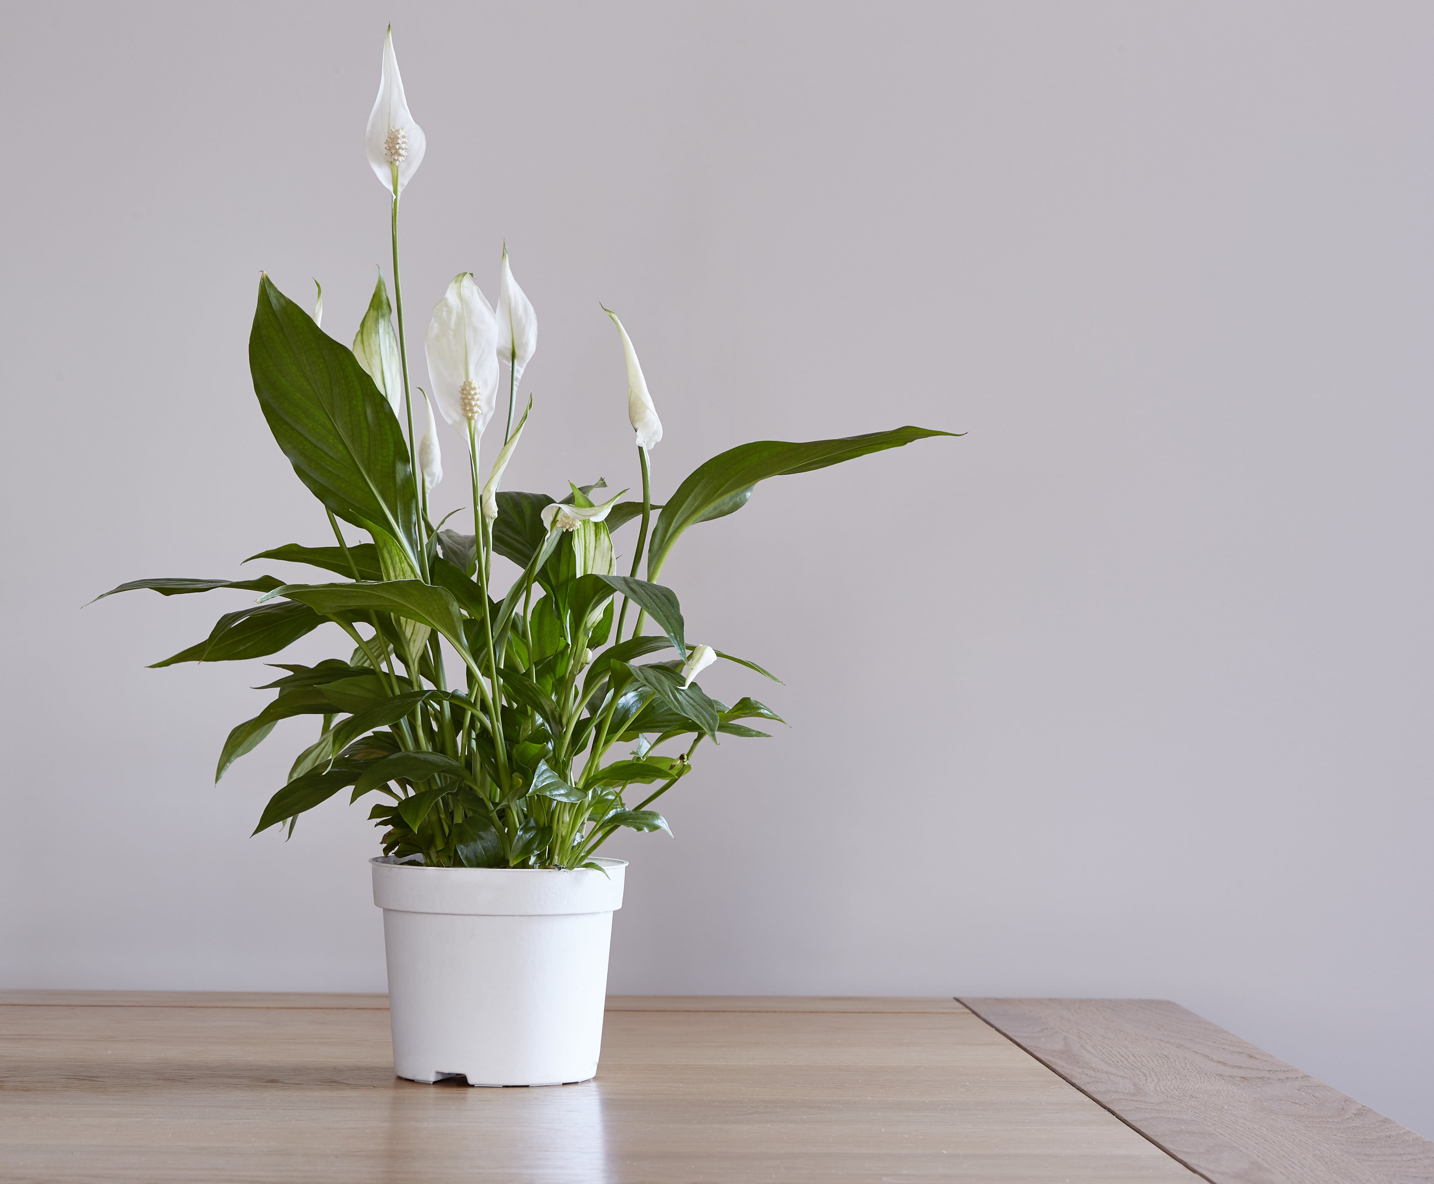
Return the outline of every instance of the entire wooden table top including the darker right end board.
[[[1434,1181],[1173,1003],[614,997],[597,1079],[393,1076],[384,996],[0,992],[0,1180]]]

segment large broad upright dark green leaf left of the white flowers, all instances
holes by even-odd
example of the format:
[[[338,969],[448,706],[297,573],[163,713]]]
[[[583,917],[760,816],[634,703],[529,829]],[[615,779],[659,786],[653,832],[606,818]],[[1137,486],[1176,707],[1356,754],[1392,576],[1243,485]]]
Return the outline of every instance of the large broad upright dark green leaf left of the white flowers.
[[[324,505],[416,554],[417,487],[389,400],[353,352],[268,276],[250,334],[254,393],[294,472]]]

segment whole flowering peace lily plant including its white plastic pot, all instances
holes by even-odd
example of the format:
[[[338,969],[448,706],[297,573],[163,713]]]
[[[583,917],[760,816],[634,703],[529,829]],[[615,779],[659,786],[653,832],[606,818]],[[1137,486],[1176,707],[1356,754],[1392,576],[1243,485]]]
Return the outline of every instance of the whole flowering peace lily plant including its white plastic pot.
[[[215,779],[281,719],[311,715],[318,738],[255,834],[293,832],[301,814],[344,791],[350,802],[376,802],[374,903],[384,910],[400,1076],[585,1081],[598,1063],[625,870],[598,851],[624,827],[668,830],[654,805],[691,775],[703,741],[766,736],[753,722],[779,719],[756,699],[723,703],[697,683],[716,660],[771,676],[691,643],[677,594],[660,583],[667,557],[688,528],[741,509],[766,478],[951,433],[746,443],[654,502],[650,455],[663,425],[632,342],[608,313],[627,360],[641,498],[608,495],[601,482],[556,498],[503,489],[533,415],[519,390],[538,320],[505,250],[496,310],[470,273],[457,276],[427,326],[429,387],[410,382],[399,198],[423,154],[390,33],[367,155],[391,202],[393,306],[380,276],[350,347],[320,329],[323,290],[310,314],[260,280],[254,390],[298,479],[324,505],[333,545],[287,544],[251,558],[326,574],[136,580],[105,596],[260,593],[155,666],[268,657],[321,627],[344,639],[314,666],[275,663],[281,676],[260,687],[274,697],[229,732]],[[479,455],[500,365],[508,409],[485,481]],[[435,405],[466,443],[472,532],[430,515],[443,475]],[[619,571],[618,531],[628,524],[635,541]],[[518,570],[506,587],[499,558]]]

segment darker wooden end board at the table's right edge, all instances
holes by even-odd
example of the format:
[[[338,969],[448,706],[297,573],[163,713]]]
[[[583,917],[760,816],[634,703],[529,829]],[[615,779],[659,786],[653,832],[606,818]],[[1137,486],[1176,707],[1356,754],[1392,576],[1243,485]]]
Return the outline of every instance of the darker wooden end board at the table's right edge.
[[[1174,1003],[962,1002],[1213,1184],[1434,1181],[1434,1142]]]

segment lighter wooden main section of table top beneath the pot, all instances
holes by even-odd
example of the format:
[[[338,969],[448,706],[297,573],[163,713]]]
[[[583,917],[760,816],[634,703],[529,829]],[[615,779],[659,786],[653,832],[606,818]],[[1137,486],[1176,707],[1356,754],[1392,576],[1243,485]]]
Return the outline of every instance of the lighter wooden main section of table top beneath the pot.
[[[1196,1180],[955,1006],[619,1003],[595,1081],[470,1089],[396,1079],[353,1000],[10,999],[6,1184]]]

